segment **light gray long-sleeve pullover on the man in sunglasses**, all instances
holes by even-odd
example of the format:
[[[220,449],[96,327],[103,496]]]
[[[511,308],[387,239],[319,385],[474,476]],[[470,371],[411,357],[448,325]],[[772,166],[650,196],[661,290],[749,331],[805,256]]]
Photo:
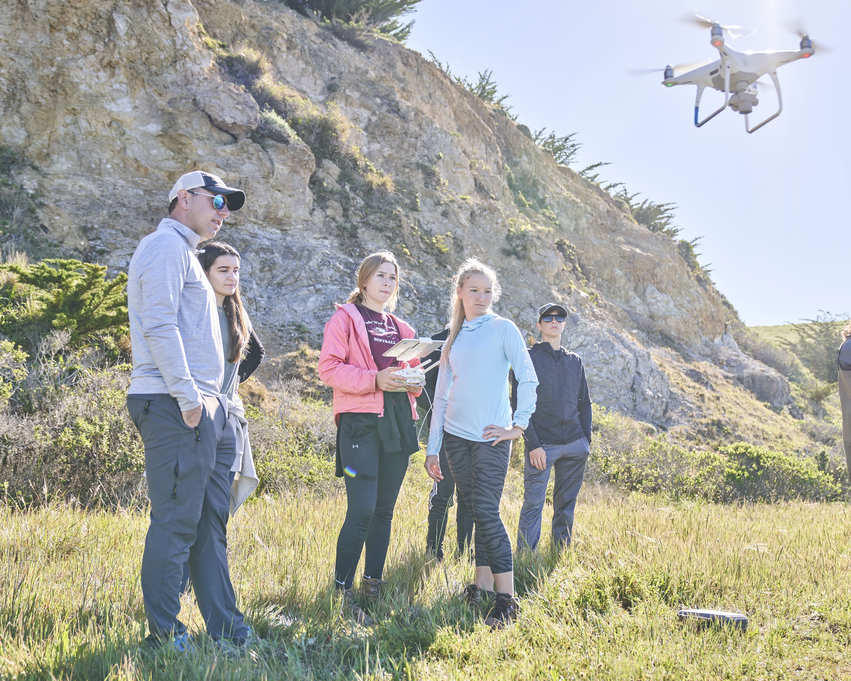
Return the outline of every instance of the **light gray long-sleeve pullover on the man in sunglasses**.
[[[215,294],[195,255],[200,237],[165,218],[130,259],[129,394],[168,392],[182,411],[218,395],[225,375]]]

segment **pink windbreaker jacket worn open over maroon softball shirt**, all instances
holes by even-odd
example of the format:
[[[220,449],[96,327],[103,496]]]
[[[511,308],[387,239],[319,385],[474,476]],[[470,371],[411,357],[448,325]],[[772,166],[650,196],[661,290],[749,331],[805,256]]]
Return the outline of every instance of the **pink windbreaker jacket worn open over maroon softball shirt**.
[[[361,313],[352,303],[337,305],[337,311],[325,324],[325,336],[322,352],[319,353],[319,378],[334,388],[334,421],[346,411],[362,414],[384,415],[384,391],[375,389],[375,375],[378,367],[369,351],[367,326]],[[399,334],[404,338],[414,338],[416,331],[408,323],[395,315]],[[412,359],[410,366],[420,363]],[[411,403],[411,415],[417,419],[415,395],[408,392]]]

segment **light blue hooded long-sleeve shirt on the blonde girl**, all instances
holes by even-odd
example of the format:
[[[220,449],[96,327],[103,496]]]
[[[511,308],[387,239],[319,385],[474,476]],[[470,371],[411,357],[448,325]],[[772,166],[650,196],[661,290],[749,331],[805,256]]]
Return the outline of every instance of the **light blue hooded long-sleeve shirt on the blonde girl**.
[[[473,442],[486,442],[484,429],[511,426],[508,369],[517,377],[518,426],[528,426],[534,412],[538,376],[520,329],[510,320],[487,312],[465,321],[446,362],[441,363],[434,394],[426,454],[437,455],[443,431]]]

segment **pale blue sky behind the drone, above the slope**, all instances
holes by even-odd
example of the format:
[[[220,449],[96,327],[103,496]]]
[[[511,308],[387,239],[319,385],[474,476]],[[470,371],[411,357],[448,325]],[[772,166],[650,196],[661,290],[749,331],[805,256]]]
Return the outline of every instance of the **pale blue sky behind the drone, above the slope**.
[[[578,132],[574,169],[608,161],[603,178],[657,202],[677,203],[681,237],[703,237],[700,261],[751,326],[851,313],[848,215],[847,31],[851,3],[724,0],[422,0],[408,47],[431,49],[454,73],[492,69],[530,129]],[[694,86],[665,88],[662,68],[717,59],[709,31],[679,19],[697,9],[724,25],[756,28],[731,47],[798,49],[802,24],[817,52],[778,71],[783,113],[754,134],[732,110],[694,128]],[[768,79],[768,77],[766,77]],[[761,90],[751,125],[776,110]],[[711,108],[715,101],[718,103]],[[707,90],[701,114],[720,106]]]

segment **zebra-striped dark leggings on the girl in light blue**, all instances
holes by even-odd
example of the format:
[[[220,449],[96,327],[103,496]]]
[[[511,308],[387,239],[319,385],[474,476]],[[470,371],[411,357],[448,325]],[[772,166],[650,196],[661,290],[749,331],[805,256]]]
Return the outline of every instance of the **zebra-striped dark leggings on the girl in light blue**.
[[[494,575],[511,572],[511,540],[500,518],[500,500],[508,474],[511,440],[494,446],[443,432],[446,458],[455,478],[458,501],[476,522],[476,565],[488,565]]]

